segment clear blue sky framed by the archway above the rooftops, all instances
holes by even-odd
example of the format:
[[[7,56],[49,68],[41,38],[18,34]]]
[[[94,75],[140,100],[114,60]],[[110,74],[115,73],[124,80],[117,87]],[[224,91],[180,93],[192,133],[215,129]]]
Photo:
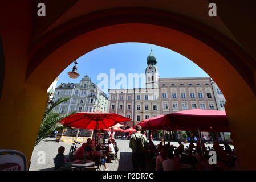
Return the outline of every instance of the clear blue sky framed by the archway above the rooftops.
[[[151,48],[157,58],[160,78],[209,77],[191,60],[170,49],[145,43],[119,43],[94,49],[79,57],[76,60],[80,74],[78,79],[68,77],[67,72],[72,71],[74,65],[72,63],[58,76],[57,86],[62,82],[78,83],[85,75],[88,75],[92,82],[99,84],[101,80],[97,80],[97,76],[106,73],[110,77],[110,69],[115,69],[115,75],[124,73],[127,78],[128,73],[144,73]],[[119,81],[115,83],[117,82]]]

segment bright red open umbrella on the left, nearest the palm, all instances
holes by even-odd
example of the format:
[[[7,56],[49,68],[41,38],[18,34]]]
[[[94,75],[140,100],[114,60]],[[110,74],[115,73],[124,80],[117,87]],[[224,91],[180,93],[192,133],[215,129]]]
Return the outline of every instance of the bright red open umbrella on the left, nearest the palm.
[[[108,129],[119,122],[131,119],[116,113],[76,113],[60,121],[63,126],[75,127],[79,129]]]

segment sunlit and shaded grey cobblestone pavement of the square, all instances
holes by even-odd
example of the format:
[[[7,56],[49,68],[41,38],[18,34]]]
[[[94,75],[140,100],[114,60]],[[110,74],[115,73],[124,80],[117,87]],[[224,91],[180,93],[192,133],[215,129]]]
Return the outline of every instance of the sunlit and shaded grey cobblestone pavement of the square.
[[[132,170],[132,150],[129,148],[129,140],[115,140],[119,148],[117,154],[119,162],[112,160],[111,163],[107,163],[107,168],[109,171],[131,171]],[[160,141],[153,141],[154,144],[159,144]],[[178,142],[170,142],[174,146],[178,147]],[[34,151],[31,157],[30,171],[38,170],[54,170],[53,158],[58,154],[58,148],[60,146],[65,147],[64,155],[68,155],[70,147],[72,144],[58,143],[55,142],[54,138],[47,138],[46,141],[38,144],[34,147]],[[189,143],[184,144],[184,147],[189,146]],[[207,144],[207,146],[212,147],[212,144]],[[79,147],[79,145],[78,145]],[[231,146],[231,148],[234,148]],[[45,164],[41,164],[42,153],[45,152],[46,160]],[[154,167],[151,164],[147,164],[147,170],[153,170]],[[103,165],[101,165],[101,170],[103,170]]]

